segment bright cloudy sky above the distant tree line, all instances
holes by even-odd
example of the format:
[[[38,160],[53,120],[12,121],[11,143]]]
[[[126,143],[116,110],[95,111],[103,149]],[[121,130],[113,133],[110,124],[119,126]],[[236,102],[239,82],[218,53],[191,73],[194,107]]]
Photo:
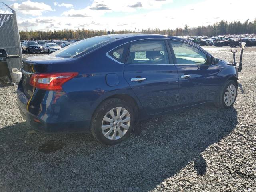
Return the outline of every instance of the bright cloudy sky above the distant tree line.
[[[1,1],[1,0],[0,0]],[[256,17],[256,0],[3,0],[19,30],[175,29]],[[1,7],[0,7],[1,8]],[[0,10],[0,13],[4,12]],[[8,10],[6,10],[8,12]]]

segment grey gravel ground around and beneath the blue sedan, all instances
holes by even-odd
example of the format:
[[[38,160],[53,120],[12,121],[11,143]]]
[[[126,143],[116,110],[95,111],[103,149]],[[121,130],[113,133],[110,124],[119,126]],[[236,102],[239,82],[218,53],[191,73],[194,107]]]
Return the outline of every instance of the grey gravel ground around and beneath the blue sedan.
[[[204,48],[232,61],[229,47]],[[34,131],[16,86],[0,84],[0,192],[256,191],[255,47],[243,62],[234,108],[209,104],[142,121],[116,146],[89,132]]]

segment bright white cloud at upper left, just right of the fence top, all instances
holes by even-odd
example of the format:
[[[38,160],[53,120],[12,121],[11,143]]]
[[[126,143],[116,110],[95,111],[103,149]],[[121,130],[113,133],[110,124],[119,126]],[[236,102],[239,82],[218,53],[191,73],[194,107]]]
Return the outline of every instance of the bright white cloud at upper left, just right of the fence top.
[[[31,2],[30,0],[24,1],[21,4],[14,3],[11,8],[32,16],[41,16],[44,11],[53,11],[50,5],[38,2]]]

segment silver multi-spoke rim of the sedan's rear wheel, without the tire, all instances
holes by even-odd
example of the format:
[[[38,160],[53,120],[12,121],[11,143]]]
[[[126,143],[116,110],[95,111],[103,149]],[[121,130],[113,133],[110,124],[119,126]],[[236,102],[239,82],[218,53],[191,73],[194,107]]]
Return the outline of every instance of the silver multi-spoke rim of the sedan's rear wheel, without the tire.
[[[106,113],[102,120],[102,134],[109,140],[118,140],[129,130],[130,113],[122,107],[116,107]]]

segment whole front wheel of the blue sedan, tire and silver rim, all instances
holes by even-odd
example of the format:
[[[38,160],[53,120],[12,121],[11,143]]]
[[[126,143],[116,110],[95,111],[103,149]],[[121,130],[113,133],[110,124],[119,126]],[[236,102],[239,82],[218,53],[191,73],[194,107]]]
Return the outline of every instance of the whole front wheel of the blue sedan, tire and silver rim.
[[[220,91],[220,94],[217,96],[215,105],[219,108],[228,109],[231,108],[237,96],[237,84],[232,80],[228,80],[226,85]]]

